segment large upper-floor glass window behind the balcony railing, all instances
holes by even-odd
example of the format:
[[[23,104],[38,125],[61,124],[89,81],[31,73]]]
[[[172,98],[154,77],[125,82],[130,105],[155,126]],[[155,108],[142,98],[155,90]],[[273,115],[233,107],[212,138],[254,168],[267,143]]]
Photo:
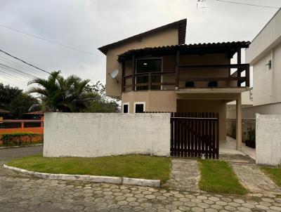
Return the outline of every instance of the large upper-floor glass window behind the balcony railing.
[[[162,72],[162,58],[145,58],[136,60],[136,74],[148,73],[148,72]],[[148,75],[136,75],[136,91],[148,90]],[[152,83],[161,83],[161,75],[153,75],[151,77]],[[142,85],[143,84],[143,85]],[[160,86],[154,85],[151,87],[152,90],[159,90]]]

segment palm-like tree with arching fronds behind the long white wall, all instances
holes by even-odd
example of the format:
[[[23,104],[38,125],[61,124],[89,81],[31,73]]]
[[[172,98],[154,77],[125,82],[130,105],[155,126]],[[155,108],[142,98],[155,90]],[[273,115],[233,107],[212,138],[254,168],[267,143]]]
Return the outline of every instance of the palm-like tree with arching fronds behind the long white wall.
[[[95,93],[87,92],[89,79],[71,75],[64,79],[60,72],[51,72],[48,79],[34,79],[30,84],[39,87],[30,88],[29,93],[38,93],[45,110],[52,112],[84,112],[89,102],[96,97]]]

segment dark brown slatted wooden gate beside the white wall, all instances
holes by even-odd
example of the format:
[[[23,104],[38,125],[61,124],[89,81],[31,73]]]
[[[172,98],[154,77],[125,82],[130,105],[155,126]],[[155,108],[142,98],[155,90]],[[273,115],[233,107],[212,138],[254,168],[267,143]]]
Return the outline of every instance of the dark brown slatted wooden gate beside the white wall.
[[[172,112],[171,156],[218,159],[218,113]]]

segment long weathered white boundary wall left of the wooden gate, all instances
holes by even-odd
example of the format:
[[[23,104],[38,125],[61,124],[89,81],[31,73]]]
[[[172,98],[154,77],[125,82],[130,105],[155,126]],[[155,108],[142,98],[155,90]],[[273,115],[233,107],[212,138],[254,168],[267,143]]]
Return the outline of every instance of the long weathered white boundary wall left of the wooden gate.
[[[45,113],[44,157],[170,155],[170,114]]]

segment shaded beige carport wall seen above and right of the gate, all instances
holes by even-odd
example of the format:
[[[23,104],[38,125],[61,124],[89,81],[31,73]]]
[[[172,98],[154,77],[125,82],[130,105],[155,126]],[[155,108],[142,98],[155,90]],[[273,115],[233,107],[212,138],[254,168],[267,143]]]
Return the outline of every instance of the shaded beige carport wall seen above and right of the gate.
[[[218,112],[219,140],[226,140],[226,102],[223,100],[177,100],[177,112]]]

